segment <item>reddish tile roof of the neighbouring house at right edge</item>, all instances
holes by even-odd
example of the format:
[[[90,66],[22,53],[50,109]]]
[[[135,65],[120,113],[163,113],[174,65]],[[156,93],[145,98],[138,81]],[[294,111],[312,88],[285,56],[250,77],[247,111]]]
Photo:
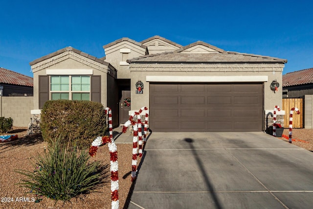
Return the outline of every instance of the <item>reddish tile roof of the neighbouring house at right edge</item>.
[[[283,87],[313,83],[313,68],[298,70],[283,75]]]

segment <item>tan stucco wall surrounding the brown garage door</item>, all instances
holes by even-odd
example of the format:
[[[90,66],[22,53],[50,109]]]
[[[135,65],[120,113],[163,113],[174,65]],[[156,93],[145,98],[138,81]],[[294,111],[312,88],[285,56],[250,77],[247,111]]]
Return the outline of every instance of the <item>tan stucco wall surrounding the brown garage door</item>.
[[[267,76],[264,82],[264,110],[273,110],[275,105],[282,105],[282,70],[283,64],[130,64],[132,110],[142,106],[149,108],[149,82],[147,75],[152,76]],[[281,86],[278,92],[270,90],[270,83],[276,79]],[[143,94],[135,93],[135,83],[144,83]],[[245,82],[245,81],[244,81]]]

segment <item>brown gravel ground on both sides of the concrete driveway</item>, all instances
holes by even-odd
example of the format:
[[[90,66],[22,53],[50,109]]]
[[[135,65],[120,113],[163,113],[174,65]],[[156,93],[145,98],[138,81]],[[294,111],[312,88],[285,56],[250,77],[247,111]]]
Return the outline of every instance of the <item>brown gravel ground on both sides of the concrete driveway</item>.
[[[25,128],[15,127],[11,134],[17,134],[19,139],[0,143],[0,208],[1,209],[111,209],[111,184],[110,176],[108,183],[99,188],[98,192],[81,195],[78,198],[72,198],[70,202],[59,201],[55,204],[54,200],[41,197],[43,200],[39,203],[32,202],[36,198],[34,194],[29,193],[21,183],[24,179],[14,169],[23,169],[32,171],[34,167],[31,161],[38,154],[44,153],[46,142],[41,135],[26,135]],[[288,138],[289,129],[284,130],[284,135]],[[292,144],[307,150],[313,151],[313,129],[293,129]],[[288,139],[279,138],[285,141]],[[131,182],[131,164],[132,164],[132,144],[117,144],[118,163],[119,163],[119,202],[120,208],[127,208],[132,193]],[[100,161],[103,165],[110,164],[110,154],[108,146],[101,146],[98,149],[95,158],[91,161]],[[139,163],[138,158],[138,163]],[[10,202],[8,202],[10,201]]]

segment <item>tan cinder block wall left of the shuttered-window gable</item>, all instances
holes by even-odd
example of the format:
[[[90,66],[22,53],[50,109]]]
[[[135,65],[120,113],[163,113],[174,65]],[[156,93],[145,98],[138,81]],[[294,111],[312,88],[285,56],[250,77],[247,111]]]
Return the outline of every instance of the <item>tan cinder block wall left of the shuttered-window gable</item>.
[[[34,109],[32,96],[0,96],[0,103],[0,116],[13,118],[13,126],[27,127]]]

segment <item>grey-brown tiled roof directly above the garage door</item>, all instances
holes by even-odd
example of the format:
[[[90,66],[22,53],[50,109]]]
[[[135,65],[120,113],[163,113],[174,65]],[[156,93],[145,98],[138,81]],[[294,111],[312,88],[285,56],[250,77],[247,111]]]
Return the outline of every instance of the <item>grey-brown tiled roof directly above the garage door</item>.
[[[216,53],[182,53],[184,50],[201,45],[214,49]],[[262,56],[256,54],[246,54],[233,51],[224,51],[216,46],[206,44],[198,41],[193,44],[184,46],[176,51],[163,52],[157,54],[144,55],[127,60],[129,63],[145,63],[145,62],[176,62],[176,63],[287,63],[286,59],[280,59],[269,56]]]

